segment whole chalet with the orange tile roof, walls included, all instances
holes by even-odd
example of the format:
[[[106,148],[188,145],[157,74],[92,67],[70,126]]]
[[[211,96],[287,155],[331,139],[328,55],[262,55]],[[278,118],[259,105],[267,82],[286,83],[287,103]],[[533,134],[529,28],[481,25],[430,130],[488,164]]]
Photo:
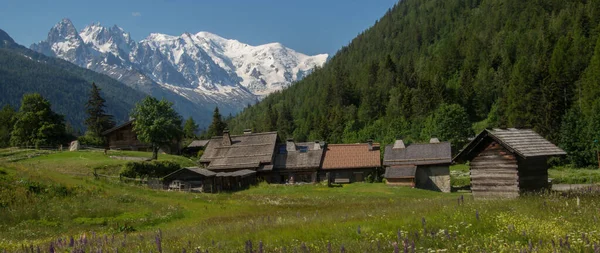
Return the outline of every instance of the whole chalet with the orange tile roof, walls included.
[[[328,144],[319,178],[332,183],[362,182],[381,168],[379,144]]]

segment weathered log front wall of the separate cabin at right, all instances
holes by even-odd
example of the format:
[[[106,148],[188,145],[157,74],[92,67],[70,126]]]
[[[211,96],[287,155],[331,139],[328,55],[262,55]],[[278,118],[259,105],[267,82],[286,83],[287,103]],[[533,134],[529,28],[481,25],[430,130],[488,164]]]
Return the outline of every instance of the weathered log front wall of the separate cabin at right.
[[[495,141],[470,164],[471,191],[475,198],[519,196],[518,160]]]

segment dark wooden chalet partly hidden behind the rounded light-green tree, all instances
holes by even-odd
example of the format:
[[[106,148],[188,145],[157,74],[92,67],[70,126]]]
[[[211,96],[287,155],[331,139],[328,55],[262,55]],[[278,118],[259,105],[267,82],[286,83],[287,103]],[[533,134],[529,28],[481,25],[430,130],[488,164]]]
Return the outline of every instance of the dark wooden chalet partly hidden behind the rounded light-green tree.
[[[152,151],[152,144],[143,143],[137,138],[133,131],[135,120],[127,121],[121,125],[102,132],[111,150],[132,150],[132,151]],[[179,152],[180,141],[173,140],[170,145],[161,146],[164,153],[177,154]]]

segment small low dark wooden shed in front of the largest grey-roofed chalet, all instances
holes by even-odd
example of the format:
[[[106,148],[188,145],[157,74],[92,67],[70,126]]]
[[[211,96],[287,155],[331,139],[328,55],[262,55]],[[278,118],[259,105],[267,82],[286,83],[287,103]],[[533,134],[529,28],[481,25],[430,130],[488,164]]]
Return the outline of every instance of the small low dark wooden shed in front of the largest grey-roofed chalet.
[[[163,177],[164,189],[173,191],[214,192],[217,173],[198,167],[182,168]]]

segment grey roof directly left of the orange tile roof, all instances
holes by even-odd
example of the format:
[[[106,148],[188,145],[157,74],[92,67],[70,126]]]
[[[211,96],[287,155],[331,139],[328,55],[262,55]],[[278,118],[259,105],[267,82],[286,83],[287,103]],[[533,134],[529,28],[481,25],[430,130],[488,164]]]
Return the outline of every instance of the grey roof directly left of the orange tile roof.
[[[315,149],[314,142],[299,142],[296,147],[296,151],[281,153],[279,151],[285,149],[286,144],[277,145],[273,169],[317,169],[321,166],[323,148]],[[306,147],[306,151],[301,151],[301,147]]]

